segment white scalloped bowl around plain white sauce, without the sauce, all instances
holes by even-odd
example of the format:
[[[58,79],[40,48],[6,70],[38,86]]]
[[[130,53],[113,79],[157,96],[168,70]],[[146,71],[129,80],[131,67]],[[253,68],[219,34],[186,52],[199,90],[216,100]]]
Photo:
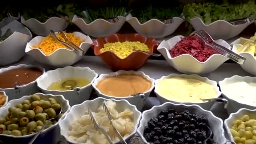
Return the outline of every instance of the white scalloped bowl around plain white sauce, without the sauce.
[[[234,98],[232,98],[232,95],[229,94],[228,91],[225,89],[225,85],[229,83],[239,82],[239,81],[244,81],[247,83],[250,83],[250,82],[256,83],[256,77],[249,77],[249,76],[241,77],[239,75],[234,75],[232,77],[225,78],[224,80],[219,81],[219,86],[220,86],[222,95],[224,96],[224,98],[226,98],[229,101],[229,104],[227,106],[228,114],[231,114],[232,112],[237,112],[237,110],[241,108],[256,109],[256,105],[252,106],[252,105],[248,105],[243,102],[239,102],[235,100]]]

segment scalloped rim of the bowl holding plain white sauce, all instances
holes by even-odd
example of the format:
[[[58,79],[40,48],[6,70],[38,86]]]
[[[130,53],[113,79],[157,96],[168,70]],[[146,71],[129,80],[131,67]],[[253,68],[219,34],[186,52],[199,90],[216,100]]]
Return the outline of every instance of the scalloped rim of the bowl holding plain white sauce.
[[[240,76],[240,75],[233,75],[232,77],[226,77],[226,78],[224,78],[224,80],[220,80],[220,81],[219,81],[219,87],[220,87],[220,89],[222,88],[221,92],[222,92],[222,94],[224,94],[225,96],[227,96],[227,98],[229,98],[229,99],[232,99],[232,98],[230,98],[229,95],[227,95],[227,94],[223,91],[223,83],[224,83],[226,80],[236,80],[236,78],[241,78],[241,79],[243,79],[243,78],[251,78],[251,79],[255,79],[255,80],[256,80],[256,77],[250,77],[250,76],[242,77],[242,76]],[[242,81],[242,80],[241,80],[241,81]],[[244,82],[244,81],[243,81],[243,82]],[[235,100],[235,99],[232,99],[232,100],[233,100],[233,101],[236,101],[236,102],[239,103],[239,104],[243,104],[243,103],[240,103],[239,101],[237,101],[237,100]],[[244,104],[244,105],[247,105],[247,106],[250,106],[250,107],[256,107],[256,105],[255,105],[255,106],[248,105],[248,104]]]

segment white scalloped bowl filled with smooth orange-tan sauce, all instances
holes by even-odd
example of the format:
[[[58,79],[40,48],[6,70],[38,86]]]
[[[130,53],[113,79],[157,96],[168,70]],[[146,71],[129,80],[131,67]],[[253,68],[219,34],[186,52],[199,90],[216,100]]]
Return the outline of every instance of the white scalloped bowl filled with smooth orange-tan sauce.
[[[154,88],[154,82],[155,80],[144,72],[119,70],[99,75],[93,83],[93,88],[99,97],[125,99],[141,110]],[[136,95],[137,93],[141,94]]]

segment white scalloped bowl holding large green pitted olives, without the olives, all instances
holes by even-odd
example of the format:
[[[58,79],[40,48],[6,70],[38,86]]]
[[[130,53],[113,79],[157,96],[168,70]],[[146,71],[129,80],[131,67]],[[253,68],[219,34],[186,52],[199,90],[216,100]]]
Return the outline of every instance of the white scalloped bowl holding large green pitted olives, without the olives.
[[[50,128],[47,128],[45,130],[42,131],[42,133],[40,133],[40,135],[38,136],[38,138],[35,140],[35,144],[40,143],[40,141],[42,141],[42,139],[45,139],[45,137],[49,137],[47,136],[47,134],[49,135],[49,133],[51,133],[51,131],[53,131],[53,129],[57,128],[57,126],[59,125],[60,121],[64,119],[64,117],[67,115],[67,113],[70,110],[70,106],[69,106],[69,101],[67,99],[64,98],[64,96],[62,95],[51,95],[51,94],[43,94],[43,93],[35,93],[35,94],[40,94],[41,98],[43,99],[48,99],[48,98],[54,98],[56,99],[56,101],[61,104],[62,107],[62,112],[63,112],[63,116],[61,117],[61,119],[55,123],[53,126],[51,126]],[[25,99],[29,99],[30,96],[22,96],[20,99],[14,99],[8,102],[8,104],[1,109],[0,111],[0,117],[5,117],[8,114],[8,108],[11,106],[15,106],[16,104],[21,104],[22,101],[24,101]],[[12,136],[12,135],[6,135],[6,134],[0,134],[0,140],[4,141],[5,143],[9,143],[10,141],[12,143],[17,143],[17,144],[28,144],[29,141],[36,135],[36,133],[34,134],[30,134],[30,135],[26,135],[26,136]],[[45,141],[45,140],[44,140]],[[51,144],[53,141],[56,141],[55,139],[48,139],[49,144]]]

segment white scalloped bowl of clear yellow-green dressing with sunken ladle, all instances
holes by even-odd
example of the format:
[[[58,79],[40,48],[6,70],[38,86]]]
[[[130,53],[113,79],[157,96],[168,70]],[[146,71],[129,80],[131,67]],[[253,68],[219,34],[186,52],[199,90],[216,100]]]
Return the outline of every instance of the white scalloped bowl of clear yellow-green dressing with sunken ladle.
[[[51,70],[37,80],[45,94],[63,95],[71,106],[90,98],[92,83],[98,74],[89,67],[64,67]]]

